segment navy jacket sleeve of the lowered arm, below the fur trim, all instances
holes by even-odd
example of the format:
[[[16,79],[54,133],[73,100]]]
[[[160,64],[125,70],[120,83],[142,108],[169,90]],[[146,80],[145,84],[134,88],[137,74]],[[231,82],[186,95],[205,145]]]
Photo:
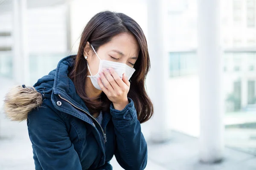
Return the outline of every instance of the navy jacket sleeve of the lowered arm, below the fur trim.
[[[43,105],[29,113],[27,119],[36,170],[81,170],[65,122],[58,113]]]

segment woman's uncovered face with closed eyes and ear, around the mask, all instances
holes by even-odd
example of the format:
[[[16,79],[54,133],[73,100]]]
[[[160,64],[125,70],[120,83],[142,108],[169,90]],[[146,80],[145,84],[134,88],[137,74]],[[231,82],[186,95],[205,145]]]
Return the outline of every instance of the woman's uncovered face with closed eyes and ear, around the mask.
[[[133,68],[139,55],[139,49],[136,38],[132,34],[123,33],[116,35],[110,42],[100,46],[96,52],[102,60],[125,63]],[[88,57],[87,62],[93,74],[92,76],[96,75],[99,70],[100,60],[94,51],[90,50],[89,42],[84,48],[84,56]]]

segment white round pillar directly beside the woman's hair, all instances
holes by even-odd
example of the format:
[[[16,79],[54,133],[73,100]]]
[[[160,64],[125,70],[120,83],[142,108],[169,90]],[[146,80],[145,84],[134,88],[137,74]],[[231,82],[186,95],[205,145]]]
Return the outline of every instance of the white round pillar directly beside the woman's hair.
[[[148,88],[154,104],[154,118],[151,121],[151,140],[164,142],[169,139],[168,115],[168,53],[164,48],[164,20],[167,17],[164,0],[148,0],[148,49],[151,62]]]

